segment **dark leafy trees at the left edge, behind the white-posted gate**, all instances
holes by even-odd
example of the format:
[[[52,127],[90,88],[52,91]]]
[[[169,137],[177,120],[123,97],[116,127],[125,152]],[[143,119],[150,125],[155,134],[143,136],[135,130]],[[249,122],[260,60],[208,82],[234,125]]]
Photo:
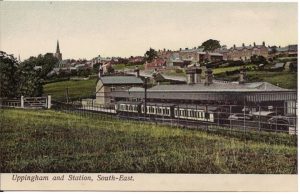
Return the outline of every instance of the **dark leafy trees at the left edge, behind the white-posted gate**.
[[[52,54],[30,57],[22,63],[0,57],[0,97],[41,96],[43,80],[57,62]],[[42,69],[36,71],[35,66]]]

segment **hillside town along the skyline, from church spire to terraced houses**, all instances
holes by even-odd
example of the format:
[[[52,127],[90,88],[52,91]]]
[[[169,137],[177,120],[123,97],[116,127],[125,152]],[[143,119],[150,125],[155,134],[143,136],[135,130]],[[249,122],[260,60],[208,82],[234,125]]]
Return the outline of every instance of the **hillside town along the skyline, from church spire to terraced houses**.
[[[136,65],[139,66],[143,72],[149,73],[151,71],[168,72],[170,70],[184,70],[189,66],[205,66],[205,67],[218,67],[226,66],[226,64],[237,66],[241,63],[251,63],[255,57],[261,57],[259,67],[264,67],[269,64],[269,68],[274,71],[280,71],[283,68],[297,68],[297,44],[281,46],[267,46],[265,42],[262,44],[249,44],[246,46],[244,43],[240,46],[233,45],[227,48],[222,45],[213,50],[206,50],[203,46],[185,48],[178,50],[158,49],[155,51],[155,57],[148,60],[146,56],[131,56],[129,58],[122,57],[102,57],[98,55],[90,60],[87,59],[62,59],[60,52],[59,42],[57,41],[56,52],[53,53],[58,59],[56,67],[53,68],[48,76],[70,74],[76,75],[78,71],[89,71],[93,69],[99,70],[101,67],[104,72],[133,72]],[[150,48],[151,50],[151,48]],[[280,58],[290,58],[291,61],[281,62],[276,61]],[[124,68],[120,68],[124,66]],[[35,66],[35,69],[41,69],[41,66]]]

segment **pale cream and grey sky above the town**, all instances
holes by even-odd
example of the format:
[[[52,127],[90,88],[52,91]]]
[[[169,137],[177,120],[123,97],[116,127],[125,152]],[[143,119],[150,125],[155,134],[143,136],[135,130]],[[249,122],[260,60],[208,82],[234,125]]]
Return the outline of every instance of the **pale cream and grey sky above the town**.
[[[232,47],[296,44],[296,3],[0,2],[0,50],[24,60],[138,56],[208,39]]]

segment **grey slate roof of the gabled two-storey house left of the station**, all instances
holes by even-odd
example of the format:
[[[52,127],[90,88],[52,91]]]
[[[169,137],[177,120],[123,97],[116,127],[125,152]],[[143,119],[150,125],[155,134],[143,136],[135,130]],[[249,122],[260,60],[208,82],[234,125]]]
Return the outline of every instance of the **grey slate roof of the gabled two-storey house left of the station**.
[[[141,78],[135,76],[103,76],[100,79],[103,84],[143,84]]]

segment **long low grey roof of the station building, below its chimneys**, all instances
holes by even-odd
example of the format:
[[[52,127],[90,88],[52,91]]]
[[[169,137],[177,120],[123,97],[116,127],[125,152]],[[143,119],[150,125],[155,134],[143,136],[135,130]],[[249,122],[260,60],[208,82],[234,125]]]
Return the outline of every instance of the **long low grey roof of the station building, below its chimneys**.
[[[150,89],[150,92],[172,91],[172,92],[251,92],[251,91],[287,91],[268,82],[254,82],[239,84],[238,82],[216,82],[205,85],[203,82],[198,84],[176,84],[176,85],[157,85]]]

